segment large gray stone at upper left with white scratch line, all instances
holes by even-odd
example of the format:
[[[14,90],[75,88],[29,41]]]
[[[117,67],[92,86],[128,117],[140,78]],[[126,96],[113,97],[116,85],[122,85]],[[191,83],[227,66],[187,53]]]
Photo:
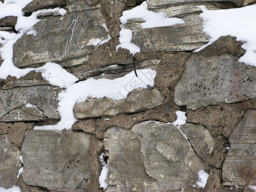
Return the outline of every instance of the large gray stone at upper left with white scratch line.
[[[79,63],[79,58],[93,52],[93,41],[108,38],[108,31],[102,26],[104,22],[100,9],[46,17],[35,25],[36,36],[24,35],[16,42],[13,61],[21,68],[47,61],[68,67],[73,65],[70,62],[73,58],[77,65],[82,64],[84,60]]]

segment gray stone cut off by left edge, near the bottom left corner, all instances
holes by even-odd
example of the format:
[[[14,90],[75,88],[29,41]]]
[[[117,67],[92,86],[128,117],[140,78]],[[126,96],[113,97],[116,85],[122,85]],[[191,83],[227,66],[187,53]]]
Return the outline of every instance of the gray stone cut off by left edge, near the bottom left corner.
[[[21,167],[20,150],[13,145],[8,134],[0,135],[0,186],[12,188]]]

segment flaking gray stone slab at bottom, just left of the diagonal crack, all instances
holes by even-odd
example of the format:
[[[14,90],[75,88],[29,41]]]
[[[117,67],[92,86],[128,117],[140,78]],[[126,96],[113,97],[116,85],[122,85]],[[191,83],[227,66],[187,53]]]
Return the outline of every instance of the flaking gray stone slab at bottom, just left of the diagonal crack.
[[[175,125],[143,122],[134,125],[132,131],[141,141],[147,173],[156,178],[159,191],[186,189],[196,183],[199,170],[207,171]]]

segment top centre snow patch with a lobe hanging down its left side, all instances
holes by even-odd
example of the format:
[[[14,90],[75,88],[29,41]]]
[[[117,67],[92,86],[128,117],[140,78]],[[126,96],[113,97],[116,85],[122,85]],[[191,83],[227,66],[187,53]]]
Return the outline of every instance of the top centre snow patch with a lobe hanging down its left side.
[[[121,22],[121,31],[119,42],[120,44],[116,46],[116,50],[119,47],[123,49],[127,49],[131,52],[131,54],[135,54],[136,52],[140,52],[140,47],[131,42],[132,40],[132,31],[130,29],[125,29],[124,25],[127,23],[129,19],[143,19],[145,22],[141,24],[141,28],[157,28],[157,27],[165,27],[165,26],[173,26],[175,24],[183,24],[184,20],[178,18],[169,18],[166,16],[166,13],[163,12],[151,12],[148,11],[147,2],[144,1],[139,6],[132,8],[131,10],[127,10],[123,12],[122,17],[120,17]]]

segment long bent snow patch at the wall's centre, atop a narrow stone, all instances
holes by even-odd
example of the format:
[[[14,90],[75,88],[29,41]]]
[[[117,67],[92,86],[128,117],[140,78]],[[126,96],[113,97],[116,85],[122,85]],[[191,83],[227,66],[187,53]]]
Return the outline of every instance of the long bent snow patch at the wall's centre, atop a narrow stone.
[[[70,129],[76,118],[73,115],[73,107],[76,102],[86,100],[88,96],[92,98],[108,97],[115,100],[125,99],[127,94],[138,88],[154,86],[156,71],[150,68],[137,70],[138,77],[134,72],[130,72],[124,77],[117,79],[86,79],[79,83],[72,84],[58,95],[61,120],[56,125],[35,126],[36,130],[62,130]]]

